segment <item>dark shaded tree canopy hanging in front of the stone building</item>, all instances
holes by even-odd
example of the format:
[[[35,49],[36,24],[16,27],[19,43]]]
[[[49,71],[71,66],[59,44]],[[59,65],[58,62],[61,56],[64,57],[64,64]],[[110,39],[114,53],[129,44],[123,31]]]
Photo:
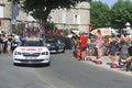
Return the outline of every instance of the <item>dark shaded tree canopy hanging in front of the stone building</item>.
[[[32,11],[32,15],[42,21],[46,22],[48,14],[54,9],[74,8],[77,3],[81,1],[91,1],[91,0],[9,0],[12,2],[19,2],[21,8],[29,13]]]

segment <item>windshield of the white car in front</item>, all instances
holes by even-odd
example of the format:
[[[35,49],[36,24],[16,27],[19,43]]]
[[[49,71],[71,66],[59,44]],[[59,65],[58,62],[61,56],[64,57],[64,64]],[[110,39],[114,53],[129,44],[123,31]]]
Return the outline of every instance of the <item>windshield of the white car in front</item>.
[[[21,46],[44,46],[42,41],[23,41]]]

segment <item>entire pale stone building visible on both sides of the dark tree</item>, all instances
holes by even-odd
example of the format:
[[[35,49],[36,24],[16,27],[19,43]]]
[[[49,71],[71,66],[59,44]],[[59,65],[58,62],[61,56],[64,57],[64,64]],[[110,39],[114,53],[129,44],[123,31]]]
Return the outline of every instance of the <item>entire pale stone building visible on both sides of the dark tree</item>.
[[[90,4],[88,2],[81,2],[76,8],[70,10],[57,9],[53,10],[48,20],[54,22],[59,30],[68,31],[85,31],[88,32],[90,23]],[[31,16],[30,16],[31,18]],[[0,30],[11,31],[12,24],[25,23],[29,21],[29,14],[19,9],[19,14],[12,19],[12,3],[8,0],[0,0]]]

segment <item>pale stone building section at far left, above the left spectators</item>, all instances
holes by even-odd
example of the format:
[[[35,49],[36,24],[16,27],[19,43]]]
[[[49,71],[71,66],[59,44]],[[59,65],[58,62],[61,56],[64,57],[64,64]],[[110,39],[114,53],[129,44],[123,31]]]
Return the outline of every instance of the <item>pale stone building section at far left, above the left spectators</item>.
[[[0,30],[9,32],[12,31],[12,25],[21,23],[28,20],[28,14],[24,13],[22,10],[19,10],[19,14],[15,20],[12,19],[12,9],[13,3],[8,2],[8,0],[0,0],[0,19],[1,25]]]

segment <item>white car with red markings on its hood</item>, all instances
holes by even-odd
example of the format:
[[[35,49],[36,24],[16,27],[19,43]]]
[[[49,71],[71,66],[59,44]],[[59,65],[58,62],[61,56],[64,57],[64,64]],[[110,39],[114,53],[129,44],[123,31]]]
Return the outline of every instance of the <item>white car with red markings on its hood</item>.
[[[46,64],[50,66],[50,51],[40,38],[24,38],[13,51],[13,64]]]

